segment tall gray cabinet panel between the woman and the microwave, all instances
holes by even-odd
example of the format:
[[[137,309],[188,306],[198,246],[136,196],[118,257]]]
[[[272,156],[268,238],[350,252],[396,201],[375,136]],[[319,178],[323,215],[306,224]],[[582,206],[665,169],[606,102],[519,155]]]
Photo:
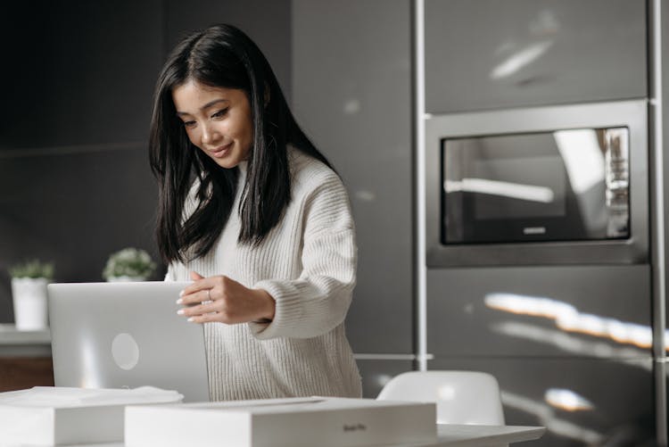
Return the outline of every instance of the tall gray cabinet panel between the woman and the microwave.
[[[293,112],[351,195],[355,352],[413,352],[408,0],[293,1]]]

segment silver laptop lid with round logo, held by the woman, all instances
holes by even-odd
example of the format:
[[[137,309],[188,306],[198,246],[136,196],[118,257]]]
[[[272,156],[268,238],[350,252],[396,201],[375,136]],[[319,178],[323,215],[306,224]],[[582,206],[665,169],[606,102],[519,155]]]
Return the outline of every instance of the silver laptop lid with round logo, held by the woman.
[[[209,401],[202,325],[177,315],[187,284],[49,285],[55,385],[152,385],[177,390],[184,401]]]

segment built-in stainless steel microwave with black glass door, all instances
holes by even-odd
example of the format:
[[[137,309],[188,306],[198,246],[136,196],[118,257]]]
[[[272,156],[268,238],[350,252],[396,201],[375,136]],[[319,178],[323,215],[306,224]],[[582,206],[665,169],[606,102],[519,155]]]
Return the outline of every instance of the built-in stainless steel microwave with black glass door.
[[[645,100],[425,120],[427,265],[648,261]]]

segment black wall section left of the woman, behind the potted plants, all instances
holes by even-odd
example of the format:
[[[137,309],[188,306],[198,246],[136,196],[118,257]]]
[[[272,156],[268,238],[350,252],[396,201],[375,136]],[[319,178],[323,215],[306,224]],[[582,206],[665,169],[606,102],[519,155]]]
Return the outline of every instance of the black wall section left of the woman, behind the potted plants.
[[[163,47],[157,0],[6,6],[0,322],[13,320],[7,269],[18,261],[95,281],[120,248],[155,256],[145,142]]]

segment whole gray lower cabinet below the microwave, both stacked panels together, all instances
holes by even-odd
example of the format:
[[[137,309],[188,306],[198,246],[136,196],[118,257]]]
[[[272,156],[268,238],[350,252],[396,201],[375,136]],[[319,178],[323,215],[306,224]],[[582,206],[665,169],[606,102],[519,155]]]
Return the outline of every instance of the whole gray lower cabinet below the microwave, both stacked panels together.
[[[528,445],[655,445],[648,265],[430,269],[428,369],[500,382]]]

